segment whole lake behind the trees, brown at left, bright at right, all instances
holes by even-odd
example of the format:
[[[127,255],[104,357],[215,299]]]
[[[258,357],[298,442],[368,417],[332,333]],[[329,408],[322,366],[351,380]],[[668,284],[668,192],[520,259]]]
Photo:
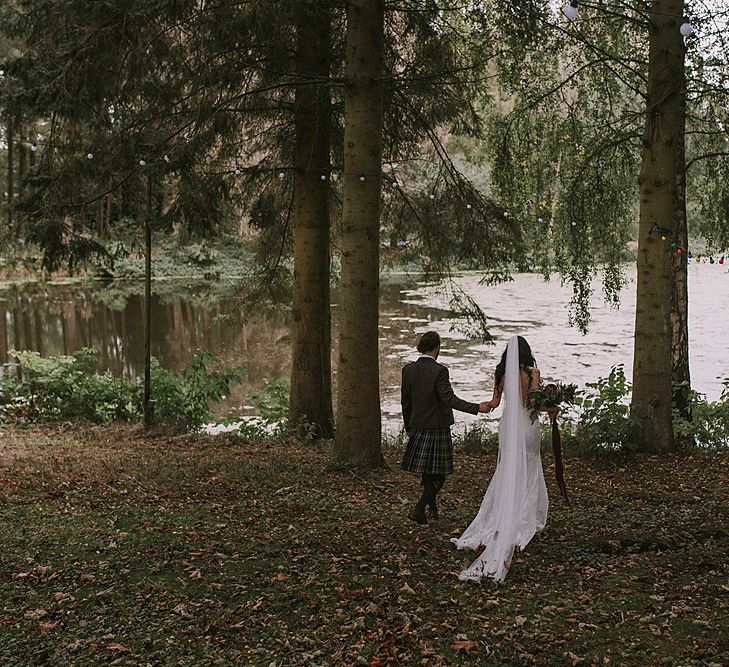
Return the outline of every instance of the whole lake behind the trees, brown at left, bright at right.
[[[463,333],[448,299],[438,286],[407,275],[383,277],[380,295],[380,376],[383,423],[400,425],[399,383],[404,363],[417,357],[419,335],[438,331],[443,338],[440,361],[446,364],[456,393],[466,399],[490,398],[493,370],[509,337],[524,335],[530,342],[545,379],[584,386],[623,364],[631,376],[635,319],[635,268],[626,271],[619,310],[602,300],[595,283],[592,323],[587,335],[568,324],[569,286],[559,278],[545,282],[537,274],[518,274],[509,283],[479,284],[477,274],[462,274],[463,290],[484,309],[495,345],[479,343]],[[141,285],[140,285],[141,289]],[[161,290],[160,290],[161,292]],[[68,354],[80,347],[99,351],[100,368],[115,375],[138,377],[143,368],[143,300],[138,294],[120,296],[101,283],[53,285],[25,283],[0,289],[0,362],[10,349],[38,350],[44,355]],[[152,354],[160,363],[179,370],[196,350],[212,352],[225,365],[248,368],[243,385],[220,407],[219,416],[251,414],[245,394],[258,390],[265,379],[286,376],[291,364],[290,337],[284,317],[258,315],[241,319],[240,304],[175,297],[169,285],[153,295]],[[332,295],[336,318],[336,292]],[[689,266],[689,333],[691,374],[696,390],[719,398],[722,379],[729,376],[729,275],[719,264]],[[334,340],[336,343],[336,323]],[[336,359],[336,347],[334,350]],[[336,382],[336,377],[335,377]],[[458,413],[459,424],[470,415]]]

